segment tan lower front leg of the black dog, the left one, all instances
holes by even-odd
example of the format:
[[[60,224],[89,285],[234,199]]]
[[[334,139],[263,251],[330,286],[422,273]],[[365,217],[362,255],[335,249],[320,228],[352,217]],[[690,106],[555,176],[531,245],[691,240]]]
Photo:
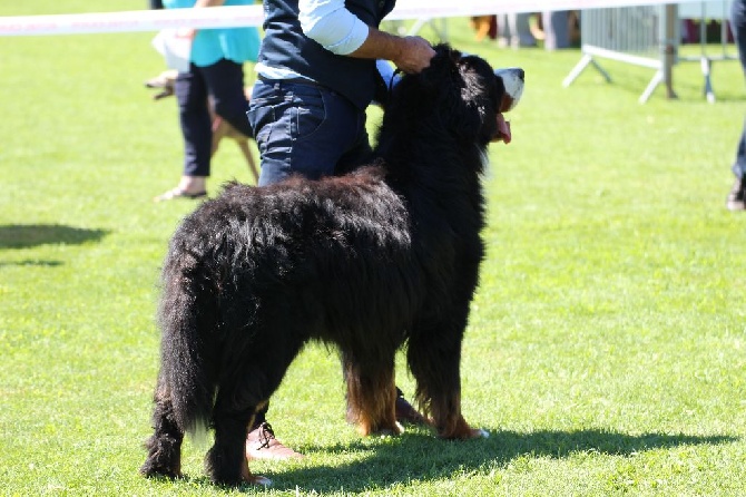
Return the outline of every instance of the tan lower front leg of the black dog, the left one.
[[[342,362],[347,382],[347,421],[357,426],[357,432],[369,436],[404,431],[396,422],[393,355],[380,364],[363,366],[345,354]]]

